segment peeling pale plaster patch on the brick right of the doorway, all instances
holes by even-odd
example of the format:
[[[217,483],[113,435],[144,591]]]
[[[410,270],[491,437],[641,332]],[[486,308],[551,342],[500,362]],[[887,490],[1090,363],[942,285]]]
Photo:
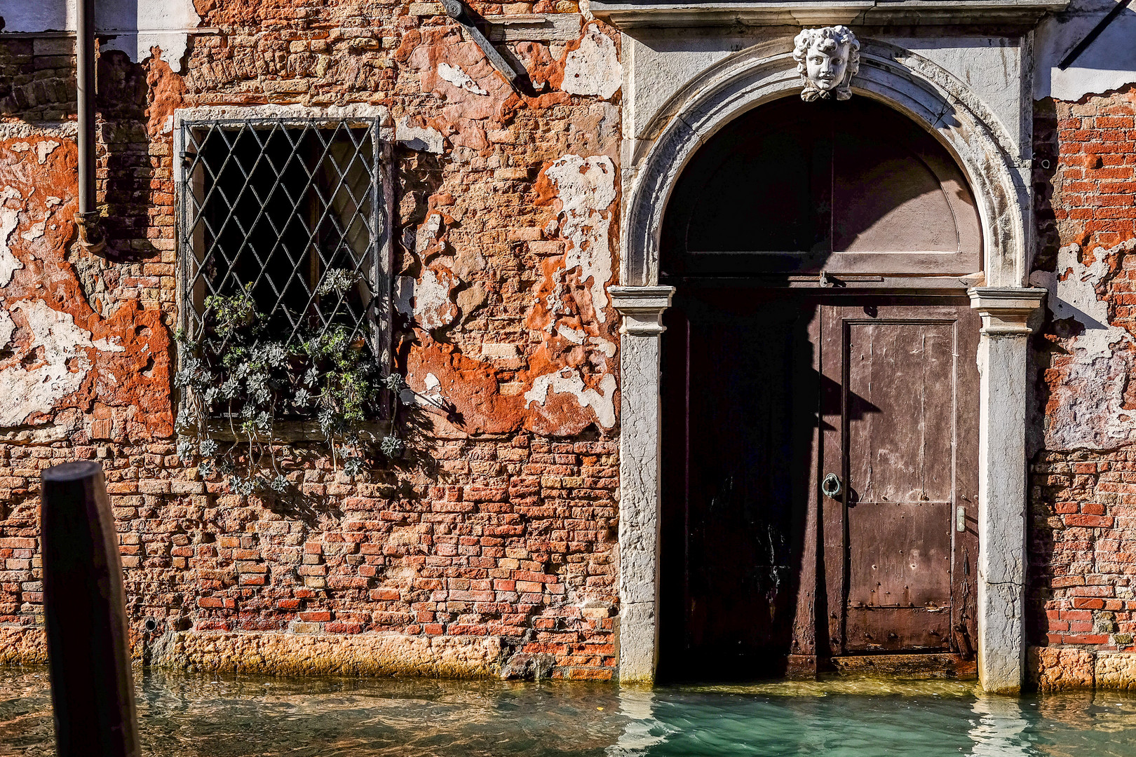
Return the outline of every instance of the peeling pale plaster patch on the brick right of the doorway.
[[[1094,261],[1085,266],[1080,247],[1072,244],[1058,252],[1056,272],[1030,276],[1033,285],[1049,291],[1055,319],[1071,318],[1084,327],[1066,345],[1071,359],[1046,406],[1049,449],[1101,449],[1136,441],[1136,410],[1125,407],[1136,339],[1109,323],[1108,302],[1096,293],[1109,275],[1109,256],[1133,250],[1136,239],[1096,250]]]

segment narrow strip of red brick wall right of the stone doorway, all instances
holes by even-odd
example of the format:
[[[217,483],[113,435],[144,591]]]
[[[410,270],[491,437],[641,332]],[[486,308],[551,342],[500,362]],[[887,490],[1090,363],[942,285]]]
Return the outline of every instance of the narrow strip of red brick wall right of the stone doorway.
[[[1030,662],[1043,689],[1136,684],[1136,91],[1038,106],[1049,288],[1035,336]],[[1043,163],[1049,161],[1049,167]]]

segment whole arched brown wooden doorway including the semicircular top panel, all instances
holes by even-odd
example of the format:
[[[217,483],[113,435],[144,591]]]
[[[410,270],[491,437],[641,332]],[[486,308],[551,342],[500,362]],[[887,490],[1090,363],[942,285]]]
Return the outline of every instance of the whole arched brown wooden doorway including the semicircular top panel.
[[[950,153],[867,98],[693,155],[660,239],[660,675],[972,668],[982,246]]]

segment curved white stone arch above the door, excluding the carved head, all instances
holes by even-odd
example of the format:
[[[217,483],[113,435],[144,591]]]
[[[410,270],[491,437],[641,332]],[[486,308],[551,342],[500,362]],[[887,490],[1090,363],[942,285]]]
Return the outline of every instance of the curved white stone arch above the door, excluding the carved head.
[[[625,91],[634,75],[625,72]],[[662,216],[699,146],[743,112],[796,94],[800,86],[792,39],[754,45],[694,76],[641,131],[651,138],[625,145],[623,186],[629,191],[624,196],[623,281],[658,283]],[[1016,144],[992,109],[950,72],[879,40],[861,40],[852,91],[905,113],[954,155],[978,201],[986,280],[1020,286],[1033,244],[1028,141]]]

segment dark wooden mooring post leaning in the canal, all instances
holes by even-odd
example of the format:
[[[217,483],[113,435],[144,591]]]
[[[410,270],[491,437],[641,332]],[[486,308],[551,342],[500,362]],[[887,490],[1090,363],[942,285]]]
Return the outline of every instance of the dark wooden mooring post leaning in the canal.
[[[102,466],[43,471],[43,607],[58,757],[136,757],[123,569]]]

